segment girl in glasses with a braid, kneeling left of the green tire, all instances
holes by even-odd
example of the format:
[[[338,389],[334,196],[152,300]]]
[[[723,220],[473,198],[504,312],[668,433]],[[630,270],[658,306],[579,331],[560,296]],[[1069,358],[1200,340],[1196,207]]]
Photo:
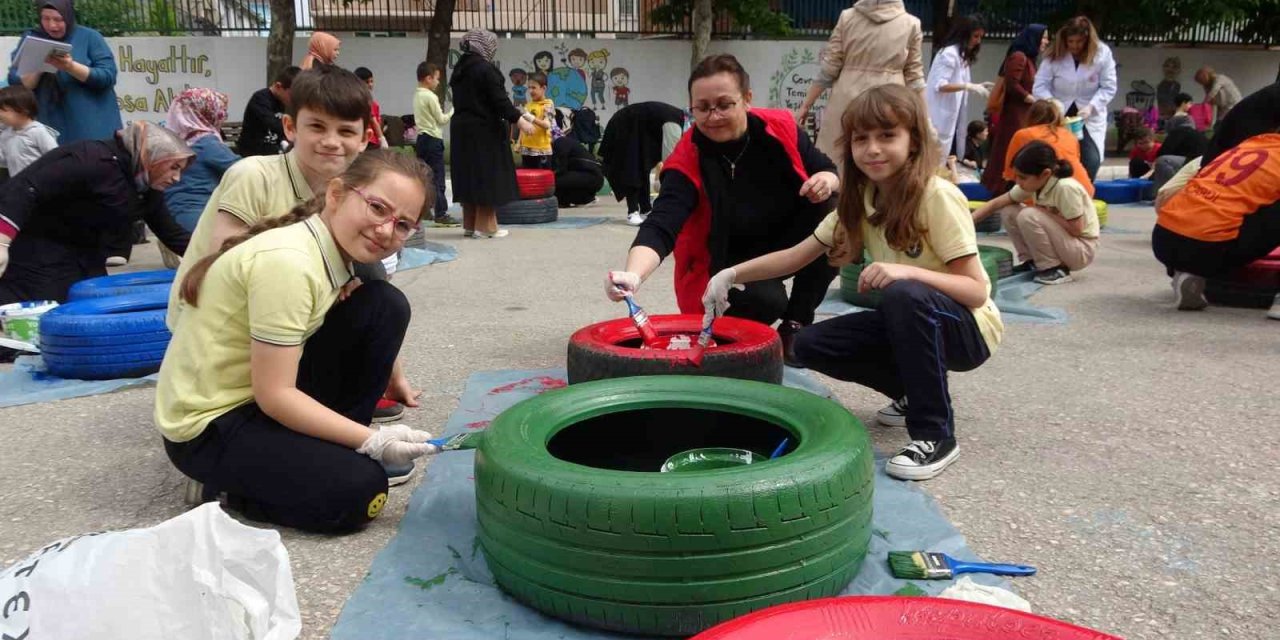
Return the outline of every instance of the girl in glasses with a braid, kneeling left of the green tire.
[[[384,465],[439,451],[404,425],[365,426],[410,306],[387,282],[348,284],[352,262],[403,246],[430,195],[421,161],[370,151],[193,265],[155,410],[169,460],[193,480],[188,495],[225,493],[255,520],[348,531],[385,504]]]

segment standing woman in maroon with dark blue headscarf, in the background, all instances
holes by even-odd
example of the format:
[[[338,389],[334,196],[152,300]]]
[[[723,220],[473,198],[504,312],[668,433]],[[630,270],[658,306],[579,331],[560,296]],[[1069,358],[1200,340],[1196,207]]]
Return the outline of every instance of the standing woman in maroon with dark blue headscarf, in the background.
[[[1005,100],[1000,104],[998,115],[992,115],[991,152],[987,155],[987,168],[982,172],[982,186],[998,196],[1005,188],[1005,152],[1014,133],[1027,125],[1027,111],[1036,102],[1032,90],[1036,86],[1036,60],[1048,46],[1048,27],[1030,24],[1014,38],[1000,65],[1000,77],[1005,78]]]

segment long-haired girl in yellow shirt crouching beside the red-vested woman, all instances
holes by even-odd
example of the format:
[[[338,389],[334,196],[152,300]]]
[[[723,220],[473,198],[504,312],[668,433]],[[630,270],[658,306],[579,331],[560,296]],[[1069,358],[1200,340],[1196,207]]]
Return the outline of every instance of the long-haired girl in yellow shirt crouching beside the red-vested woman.
[[[809,369],[893,398],[881,421],[905,425],[911,443],[884,470],[928,480],[960,451],[947,370],[986,362],[1004,325],[968,202],[934,175],[938,150],[919,95],[896,84],[874,87],[850,102],[841,129],[844,184],[836,211],[799,244],[717,273],[703,303],[708,315],[723,312],[731,288],[794,273],[823,252],[835,264],[870,253],[858,288],[881,291],[879,308],[801,329],[795,355]]]

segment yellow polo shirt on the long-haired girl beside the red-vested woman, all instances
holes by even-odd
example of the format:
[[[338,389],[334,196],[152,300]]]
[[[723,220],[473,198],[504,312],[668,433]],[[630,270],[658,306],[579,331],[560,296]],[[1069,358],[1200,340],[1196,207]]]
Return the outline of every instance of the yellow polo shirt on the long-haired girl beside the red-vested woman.
[[[876,188],[869,187],[863,197],[867,205],[867,219],[876,216],[874,202]],[[969,214],[969,201],[964,193],[942,178],[933,178],[924,188],[924,200],[920,202],[920,223],[924,228],[923,243],[916,247],[919,251],[897,251],[884,239],[884,228],[863,220],[863,246],[872,256],[873,262],[895,262],[900,265],[919,266],[931,271],[948,273],[947,262],[978,255],[978,236],[973,229],[973,216]],[[827,218],[818,224],[813,232],[814,238],[827,247],[835,246],[836,225],[840,216],[836,211],[827,214]],[[996,353],[996,347],[1005,335],[1005,324],[1000,320],[1000,310],[991,300],[991,279],[987,270],[982,270],[982,279],[987,282],[987,302],[980,307],[970,308],[973,319],[982,332],[982,339],[987,343],[987,351]]]

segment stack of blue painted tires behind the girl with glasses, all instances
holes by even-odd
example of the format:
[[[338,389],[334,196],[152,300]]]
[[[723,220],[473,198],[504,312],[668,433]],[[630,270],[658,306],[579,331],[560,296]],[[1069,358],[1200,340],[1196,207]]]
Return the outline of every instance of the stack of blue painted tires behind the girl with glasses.
[[[110,380],[160,370],[172,337],[165,307],[174,271],[91,278],[40,319],[45,369],[59,378]]]

